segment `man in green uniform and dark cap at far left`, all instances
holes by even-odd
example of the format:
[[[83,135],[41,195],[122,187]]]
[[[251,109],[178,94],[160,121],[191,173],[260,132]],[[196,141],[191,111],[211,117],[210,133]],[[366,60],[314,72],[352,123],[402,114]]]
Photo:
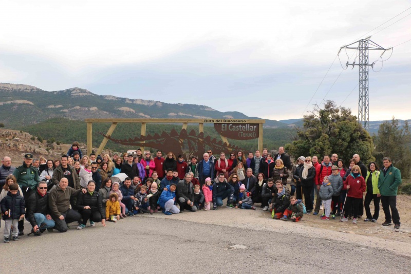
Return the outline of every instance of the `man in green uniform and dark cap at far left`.
[[[33,162],[33,154],[26,153],[24,155],[23,165],[17,167],[13,171],[16,177],[17,184],[23,191],[24,202],[27,205],[28,198],[35,191],[38,182],[40,181],[39,173],[31,164]],[[18,221],[18,235],[24,235],[24,220]]]

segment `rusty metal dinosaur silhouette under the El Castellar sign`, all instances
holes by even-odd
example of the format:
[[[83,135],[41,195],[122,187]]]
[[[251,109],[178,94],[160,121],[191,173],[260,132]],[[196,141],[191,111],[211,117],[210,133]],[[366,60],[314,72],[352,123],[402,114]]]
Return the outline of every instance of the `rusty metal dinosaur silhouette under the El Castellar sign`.
[[[204,137],[204,133],[202,132],[196,134],[194,130],[187,133],[187,131],[183,129],[178,133],[173,129],[170,134],[163,132],[161,135],[156,133],[154,136],[150,134],[147,136],[140,135],[140,137],[135,137],[134,139],[115,139],[102,132],[99,132],[99,134],[115,143],[129,147],[148,147],[161,150],[162,152],[172,151],[175,155],[186,155],[186,157],[184,157],[186,159],[191,155],[202,158],[202,154],[206,152],[207,149],[212,149],[215,153],[225,152],[226,154],[230,153],[230,151],[244,151],[236,145],[228,144],[221,140],[217,141],[216,138],[211,139],[210,136]],[[183,151],[186,151],[186,153]]]

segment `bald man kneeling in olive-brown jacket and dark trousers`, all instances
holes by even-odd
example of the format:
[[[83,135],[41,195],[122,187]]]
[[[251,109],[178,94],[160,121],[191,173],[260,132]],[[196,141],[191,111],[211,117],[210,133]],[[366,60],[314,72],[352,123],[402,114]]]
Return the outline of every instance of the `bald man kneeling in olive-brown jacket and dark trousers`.
[[[76,196],[80,191],[86,193],[86,189],[75,190],[68,186],[68,179],[60,179],[59,185],[50,191],[48,205],[51,217],[55,225],[54,229],[60,232],[66,232],[69,223],[79,222],[81,214],[70,208],[70,197]]]

